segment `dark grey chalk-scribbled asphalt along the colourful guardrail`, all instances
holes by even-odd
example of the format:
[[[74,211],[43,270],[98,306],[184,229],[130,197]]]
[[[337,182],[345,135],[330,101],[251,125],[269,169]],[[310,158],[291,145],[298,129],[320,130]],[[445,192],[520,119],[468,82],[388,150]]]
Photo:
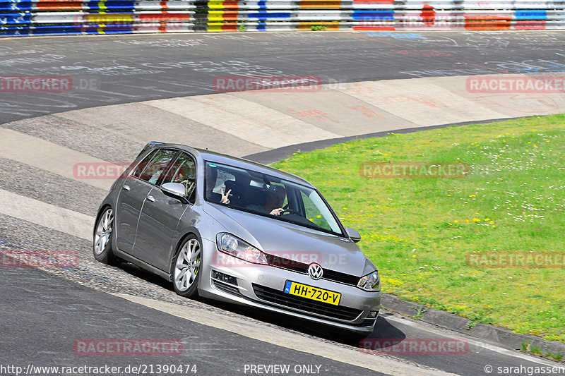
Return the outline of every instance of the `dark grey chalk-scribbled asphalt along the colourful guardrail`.
[[[3,39],[2,76],[70,76],[73,92],[2,93],[0,123],[105,104],[213,94],[226,75],[323,83],[565,68],[562,32],[300,32]],[[220,90],[221,91],[221,90]]]

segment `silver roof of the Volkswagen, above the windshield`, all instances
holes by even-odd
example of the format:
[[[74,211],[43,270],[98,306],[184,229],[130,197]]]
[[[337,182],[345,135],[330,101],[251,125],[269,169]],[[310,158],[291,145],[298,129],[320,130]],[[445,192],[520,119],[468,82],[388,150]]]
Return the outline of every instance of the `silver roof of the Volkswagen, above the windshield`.
[[[232,155],[222,154],[219,152],[212,152],[210,150],[202,150],[196,147],[190,147],[187,145],[181,144],[171,144],[171,143],[159,143],[153,144],[157,147],[174,147],[177,149],[186,150],[194,155],[194,157],[198,159],[202,159],[208,162],[215,162],[218,164],[227,164],[229,166],[240,167],[242,169],[250,169],[252,171],[258,171],[263,174],[268,174],[271,176],[275,176],[277,178],[283,178],[288,181],[292,181],[295,183],[299,183],[305,186],[309,186],[314,188],[314,186],[304,178],[297,176],[295,174],[290,174],[285,171],[281,171],[279,169],[274,169],[273,167],[266,166],[265,164],[260,164],[257,162],[250,161],[249,159],[243,159],[238,157],[233,157]]]

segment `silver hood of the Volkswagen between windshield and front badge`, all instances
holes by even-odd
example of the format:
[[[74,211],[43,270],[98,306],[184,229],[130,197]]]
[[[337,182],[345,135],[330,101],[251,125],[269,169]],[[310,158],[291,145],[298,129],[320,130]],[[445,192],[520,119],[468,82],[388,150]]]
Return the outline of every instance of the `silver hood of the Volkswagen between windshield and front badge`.
[[[347,238],[222,205],[206,203],[204,211],[228,232],[265,253],[305,264],[317,262],[324,269],[357,277],[369,267],[357,244]]]

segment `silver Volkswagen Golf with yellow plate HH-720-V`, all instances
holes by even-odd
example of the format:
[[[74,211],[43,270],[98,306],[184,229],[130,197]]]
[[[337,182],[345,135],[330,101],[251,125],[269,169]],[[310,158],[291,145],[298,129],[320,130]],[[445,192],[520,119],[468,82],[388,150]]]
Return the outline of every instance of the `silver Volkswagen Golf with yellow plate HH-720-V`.
[[[379,272],[316,187],[224,154],[149,142],[100,205],[94,257],[197,294],[373,331]]]

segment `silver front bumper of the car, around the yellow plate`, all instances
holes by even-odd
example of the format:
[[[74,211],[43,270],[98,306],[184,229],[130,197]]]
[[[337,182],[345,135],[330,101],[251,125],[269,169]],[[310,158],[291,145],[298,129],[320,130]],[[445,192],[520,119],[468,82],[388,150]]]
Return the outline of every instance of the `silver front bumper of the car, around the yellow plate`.
[[[215,242],[206,239],[203,239],[201,261],[202,274],[198,287],[201,296],[263,308],[359,333],[374,330],[376,317],[367,316],[370,312],[378,313],[380,292],[363,291],[326,279],[316,281],[306,274],[288,269],[244,262],[225,253],[220,254]],[[222,275],[214,276],[213,272]],[[286,281],[338,292],[341,294],[340,303],[330,305],[284,293]]]

